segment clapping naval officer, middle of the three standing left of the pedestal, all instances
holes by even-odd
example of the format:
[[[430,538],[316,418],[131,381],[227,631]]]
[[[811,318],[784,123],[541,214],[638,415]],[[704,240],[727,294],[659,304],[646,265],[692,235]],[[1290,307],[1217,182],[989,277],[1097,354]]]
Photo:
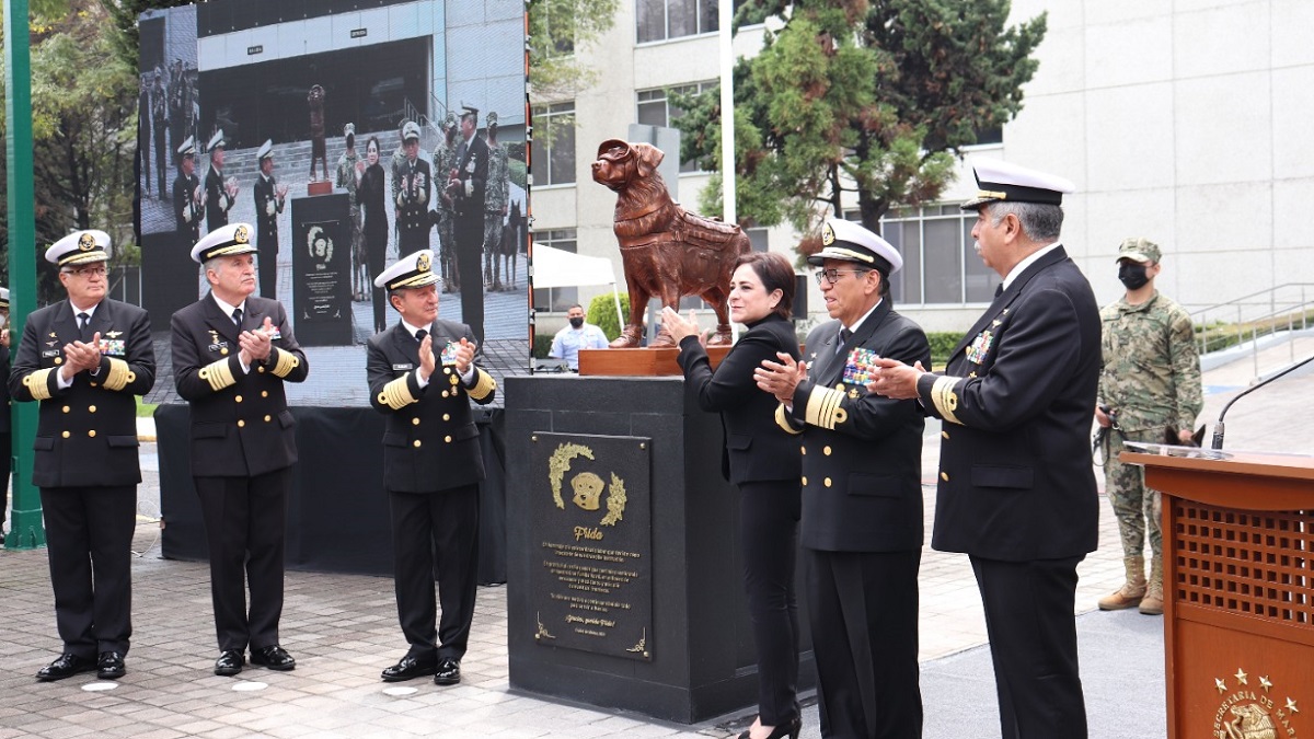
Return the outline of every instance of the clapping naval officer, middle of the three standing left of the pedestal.
[[[192,249],[210,295],[171,322],[177,393],[192,405],[192,479],[210,550],[215,675],[251,663],[293,669],[279,646],[288,490],[297,462],[284,383],[310,367],[283,305],[255,292],[251,226],[230,224]],[[243,583],[246,580],[246,583]],[[251,589],[247,610],[246,585]]]

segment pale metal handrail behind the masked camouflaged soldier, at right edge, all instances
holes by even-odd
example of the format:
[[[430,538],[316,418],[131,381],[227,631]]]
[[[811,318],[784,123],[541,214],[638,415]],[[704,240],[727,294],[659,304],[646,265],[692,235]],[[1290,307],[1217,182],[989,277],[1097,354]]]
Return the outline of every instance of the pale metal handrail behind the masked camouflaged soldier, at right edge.
[[[1227,302],[1190,312],[1200,354],[1248,345],[1255,376],[1260,376],[1259,352],[1264,337],[1286,342],[1296,359],[1296,331],[1314,329],[1314,283],[1285,283]]]

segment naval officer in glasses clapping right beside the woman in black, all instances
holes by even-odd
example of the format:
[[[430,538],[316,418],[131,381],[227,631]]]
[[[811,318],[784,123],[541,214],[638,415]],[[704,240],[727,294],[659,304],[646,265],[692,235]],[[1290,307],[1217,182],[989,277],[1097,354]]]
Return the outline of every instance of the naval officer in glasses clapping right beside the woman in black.
[[[866,391],[872,359],[930,363],[917,323],[894,312],[890,275],[903,258],[884,239],[830,218],[817,284],[834,321],[807,338],[807,360],[763,362],[758,387],[800,434],[802,559],[817,665],[821,735],[921,736],[917,568],[921,561],[921,433],[912,400]]]

